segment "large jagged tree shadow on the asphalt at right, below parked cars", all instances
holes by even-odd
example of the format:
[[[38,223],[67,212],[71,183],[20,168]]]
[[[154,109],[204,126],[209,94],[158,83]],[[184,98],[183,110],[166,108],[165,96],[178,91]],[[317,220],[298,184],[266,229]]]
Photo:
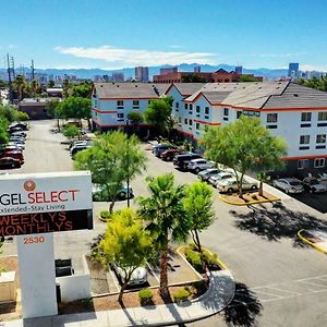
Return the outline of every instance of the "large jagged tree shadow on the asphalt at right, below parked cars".
[[[290,210],[281,203],[274,203],[269,210],[253,205],[247,205],[247,207],[251,211],[246,214],[230,211],[235,218],[235,227],[257,234],[267,241],[279,241],[288,238],[293,240],[293,246],[307,247],[308,245],[299,241],[296,235],[299,230],[327,230],[327,221],[306,213]]]

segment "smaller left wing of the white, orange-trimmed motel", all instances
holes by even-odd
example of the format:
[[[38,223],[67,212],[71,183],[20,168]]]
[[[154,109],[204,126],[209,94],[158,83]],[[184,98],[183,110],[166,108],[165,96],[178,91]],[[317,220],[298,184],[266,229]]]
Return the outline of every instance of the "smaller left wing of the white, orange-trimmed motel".
[[[92,92],[93,128],[100,132],[126,130],[128,114],[144,113],[150,100],[159,99],[169,85],[150,83],[95,83]],[[133,126],[135,128],[135,126]],[[150,133],[149,124],[138,124],[141,135]]]

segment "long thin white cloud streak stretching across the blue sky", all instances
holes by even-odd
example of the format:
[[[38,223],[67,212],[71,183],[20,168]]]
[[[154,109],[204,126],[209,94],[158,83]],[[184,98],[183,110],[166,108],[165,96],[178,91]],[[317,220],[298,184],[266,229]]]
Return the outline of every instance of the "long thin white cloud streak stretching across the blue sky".
[[[71,55],[78,58],[105,60],[107,62],[121,63],[126,65],[157,65],[179,63],[217,63],[217,55],[209,52],[181,52],[181,51],[147,51],[121,49],[110,46],[97,48],[84,47],[56,47],[55,50],[63,55]]]

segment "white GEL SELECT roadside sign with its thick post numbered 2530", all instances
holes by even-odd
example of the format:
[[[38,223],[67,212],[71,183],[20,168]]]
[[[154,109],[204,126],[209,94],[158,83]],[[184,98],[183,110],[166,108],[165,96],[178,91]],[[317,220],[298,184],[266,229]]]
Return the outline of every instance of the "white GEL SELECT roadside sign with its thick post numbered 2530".
[[[93,228],[88,171],[0,178],[0,235],[17,235],[23,317],[58,314],[53,232]]]

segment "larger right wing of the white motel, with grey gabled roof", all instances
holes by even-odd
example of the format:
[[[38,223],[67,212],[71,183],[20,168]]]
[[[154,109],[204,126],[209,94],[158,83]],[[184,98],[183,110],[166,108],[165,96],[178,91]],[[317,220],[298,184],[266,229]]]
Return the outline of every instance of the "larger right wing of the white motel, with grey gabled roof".
[[[192,93],[193,92],[193,93]],[[192,94],[191,94],[192,93]],[[327,172],[327,93],[290,82],[171,84],[177,132],[196,143],[208,126],[258,117],[286,140],[286,173]]]

